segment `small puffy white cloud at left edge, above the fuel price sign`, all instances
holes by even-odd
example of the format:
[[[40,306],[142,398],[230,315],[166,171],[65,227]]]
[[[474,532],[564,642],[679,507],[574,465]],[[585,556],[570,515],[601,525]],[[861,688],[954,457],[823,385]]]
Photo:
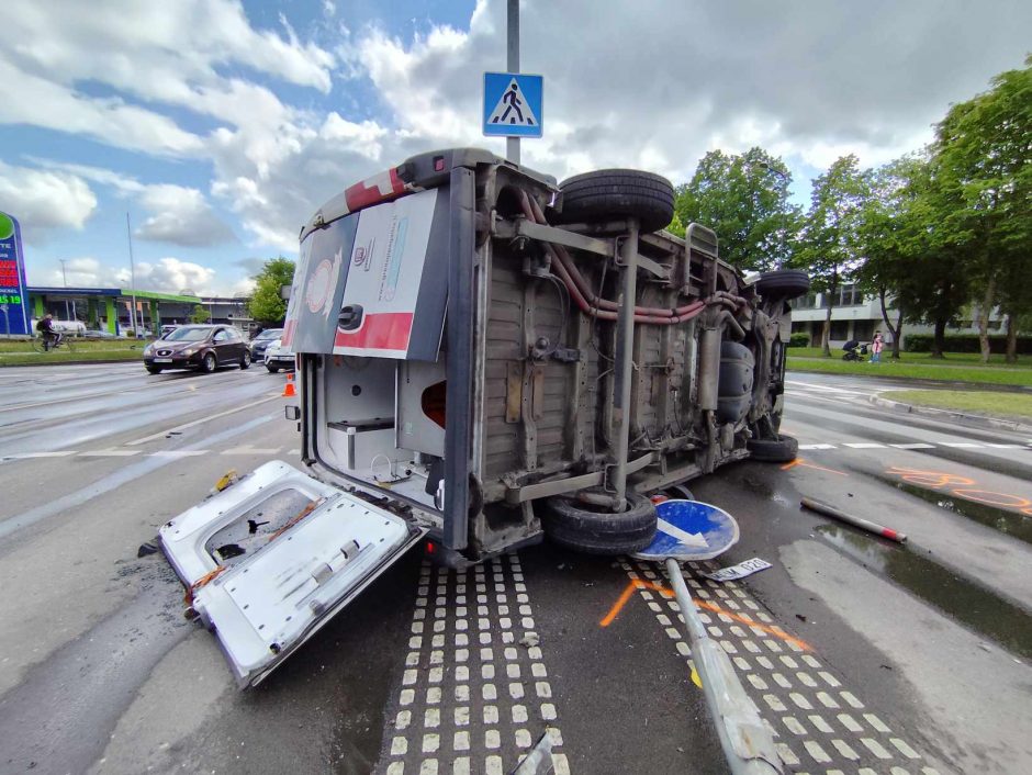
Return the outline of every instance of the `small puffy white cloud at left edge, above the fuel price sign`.
[[[21,222],[26,243],[44,242],[52,228],[80,229],[96,209],[96,194],[76,175],[0,161],[0,210]]]

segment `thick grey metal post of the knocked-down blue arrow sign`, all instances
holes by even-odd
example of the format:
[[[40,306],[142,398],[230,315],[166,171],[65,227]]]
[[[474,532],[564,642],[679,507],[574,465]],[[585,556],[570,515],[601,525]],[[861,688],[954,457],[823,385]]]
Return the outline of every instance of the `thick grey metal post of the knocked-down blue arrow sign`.
[[[703,694],[717,727],[720,746],[733,775],[771,775],[784,773],[774,737],[760,718],[755,704],[745,694],[731,665],[731,658],[709,637],[703,626],[695,600],[681,575],[681,565],[666,560],[666,574],[684,618],[695,672],[703,682]]]

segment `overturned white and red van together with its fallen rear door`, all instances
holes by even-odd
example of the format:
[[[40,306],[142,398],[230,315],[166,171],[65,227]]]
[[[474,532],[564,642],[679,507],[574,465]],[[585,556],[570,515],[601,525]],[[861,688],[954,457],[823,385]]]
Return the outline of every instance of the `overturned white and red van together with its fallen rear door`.
[[[542,539],[629,554],[651,494],[795,458],[787,302],[809,278],[747,284],[711,229],[662,231],[673,205],[649,172],[559,183],[456,148],[313,214],[281,338],[306,470],[270,461],[160,528],[240,685],[424,537],[457,568]]]

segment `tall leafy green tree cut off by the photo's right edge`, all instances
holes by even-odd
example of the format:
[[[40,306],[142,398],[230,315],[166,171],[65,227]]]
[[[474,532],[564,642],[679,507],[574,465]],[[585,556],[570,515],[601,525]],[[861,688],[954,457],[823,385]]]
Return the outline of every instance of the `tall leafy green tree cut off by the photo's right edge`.
[[[971,260],[983,360],[997,305],[1008,317],[1013,360],[1014,321],[1032,310],[1032,55],[1023,69],[1000,74],[989,91],[954,105],[935,135],[941,240]]]

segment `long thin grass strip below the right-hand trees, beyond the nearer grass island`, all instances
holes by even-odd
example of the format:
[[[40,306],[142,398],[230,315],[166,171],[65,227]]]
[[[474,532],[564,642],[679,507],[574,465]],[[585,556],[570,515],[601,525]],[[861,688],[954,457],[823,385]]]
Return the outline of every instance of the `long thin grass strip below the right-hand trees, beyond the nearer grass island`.
[[[1011,369],[994,366],[940,364],[935,361],[880,363],[852,362],[832,358],[797,358],[788,356],[789,371],[810,371],[849,377],[885,377],[894,380],[940,380],[990,385],[1032,386],[1032,369]]]

